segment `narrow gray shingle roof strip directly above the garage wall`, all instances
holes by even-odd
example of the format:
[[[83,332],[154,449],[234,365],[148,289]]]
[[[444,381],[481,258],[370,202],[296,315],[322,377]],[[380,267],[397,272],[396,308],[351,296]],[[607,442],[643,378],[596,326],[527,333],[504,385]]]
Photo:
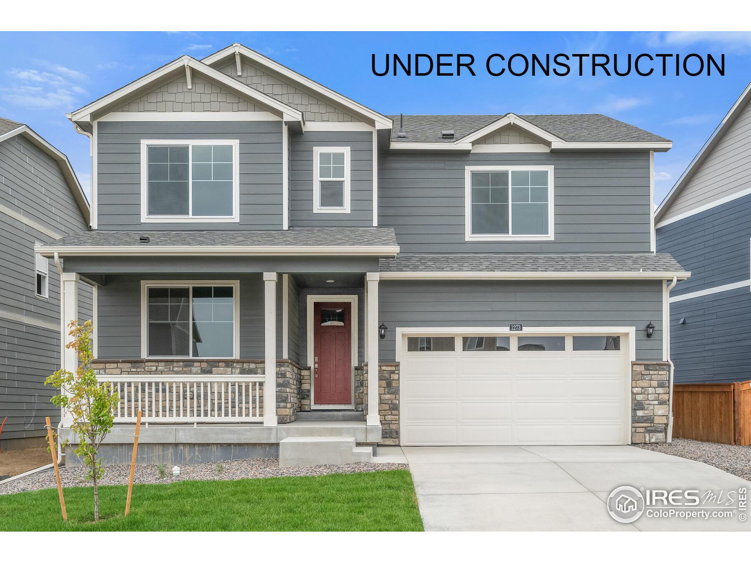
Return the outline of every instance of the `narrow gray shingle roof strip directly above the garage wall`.
[[[684,272],[670,254],[400,254],[382,272]]]

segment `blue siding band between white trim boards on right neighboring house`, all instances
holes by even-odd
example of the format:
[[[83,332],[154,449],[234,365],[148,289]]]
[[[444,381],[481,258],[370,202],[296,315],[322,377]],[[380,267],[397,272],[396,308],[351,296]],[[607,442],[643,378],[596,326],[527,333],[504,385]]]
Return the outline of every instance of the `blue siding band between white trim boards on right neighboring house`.
[[[692,272],[673,297],[749,279],[749,247],[751,195],[657,229],[657,251],[670,252]]]

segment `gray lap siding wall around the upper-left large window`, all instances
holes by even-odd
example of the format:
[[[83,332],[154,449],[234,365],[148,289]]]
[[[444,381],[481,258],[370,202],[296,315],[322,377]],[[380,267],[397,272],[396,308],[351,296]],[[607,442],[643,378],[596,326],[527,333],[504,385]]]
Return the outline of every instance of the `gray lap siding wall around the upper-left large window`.
[[[282,122],[207,121],[99,123],[97,197],[100,229],[141,228],[142,139],[240,140],[239,223],[149,223],[149,230],[282,228]]]

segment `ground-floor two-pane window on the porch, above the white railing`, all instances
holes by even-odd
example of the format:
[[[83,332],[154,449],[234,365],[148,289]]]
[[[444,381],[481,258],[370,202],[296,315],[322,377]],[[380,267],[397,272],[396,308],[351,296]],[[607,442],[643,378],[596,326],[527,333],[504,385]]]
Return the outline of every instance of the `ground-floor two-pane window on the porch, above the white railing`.
[[[237,357],[237,281],[143,282],[146,357]]]

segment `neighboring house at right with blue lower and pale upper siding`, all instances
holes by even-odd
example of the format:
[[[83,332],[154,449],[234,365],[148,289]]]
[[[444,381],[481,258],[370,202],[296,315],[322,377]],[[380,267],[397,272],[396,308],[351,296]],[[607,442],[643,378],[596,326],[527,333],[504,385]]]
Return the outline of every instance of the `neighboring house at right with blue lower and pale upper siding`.
[[[751,379],[751,85],[655,221],[659,251],[693,272],[671,294],[676,381]]]

